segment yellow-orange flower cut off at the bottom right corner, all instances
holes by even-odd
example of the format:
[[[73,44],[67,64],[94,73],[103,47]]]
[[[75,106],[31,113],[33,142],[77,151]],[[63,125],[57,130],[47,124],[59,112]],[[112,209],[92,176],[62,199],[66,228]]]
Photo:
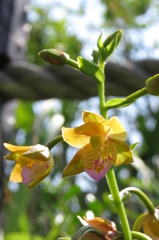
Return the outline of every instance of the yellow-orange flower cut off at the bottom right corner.
[[[155,208],[154,214],[143,213],[135,223],[135,231],[143,232],[153,240],[159,239],[159,206]]]

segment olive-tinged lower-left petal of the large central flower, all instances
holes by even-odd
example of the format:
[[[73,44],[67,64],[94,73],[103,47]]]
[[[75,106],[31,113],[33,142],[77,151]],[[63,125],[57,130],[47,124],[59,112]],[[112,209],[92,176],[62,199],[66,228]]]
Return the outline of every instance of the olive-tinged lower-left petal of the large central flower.
[[[74,176],[76,174],[82,173],[84,171],[84,166],[81,160],[81,155],[83,152],[83,148],[80,149],[70,161],[70,163],[63,170],[62,177]]]

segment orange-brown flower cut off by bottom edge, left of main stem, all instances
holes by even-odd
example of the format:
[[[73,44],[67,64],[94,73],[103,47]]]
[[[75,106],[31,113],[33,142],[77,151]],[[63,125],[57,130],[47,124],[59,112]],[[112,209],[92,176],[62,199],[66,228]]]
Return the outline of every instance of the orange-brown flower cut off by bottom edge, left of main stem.
[[[115,237],[117,237],[119,235],[119,232],[116,229],[116,225],[114,222],[108,220],[108,219],[104,219],[101,217],[95,217],[93,219],[87,219],[85,217],[83,217],[83,219],[78,216],[78,219],[80,220],[80,222],[84,225],[84,226],[91,226],[96,228],[98,231],[100,231],[105,239],[109,240],[109,239],[114,239]],[[98,237],[97,235],[93,234],[93,233],[87,233],[82,240],[91,240],[91,239],[101,239],[100,237]]]

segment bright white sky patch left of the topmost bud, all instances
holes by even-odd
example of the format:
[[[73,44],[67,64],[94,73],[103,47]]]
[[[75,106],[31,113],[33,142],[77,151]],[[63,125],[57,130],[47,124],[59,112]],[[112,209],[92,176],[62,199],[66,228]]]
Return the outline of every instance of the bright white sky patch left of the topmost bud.
[[[66,6],[66,8],[69,8],[74,12],[80,9],[82,2],[84,2],[85,6],[85,14],[82,15],[82,17],[78,14],[70,14],[68,17],[65,8],[60,6],[60,4]],[[83,55],[89,57],[92,53],[92,49],[96,47],[97,38],[99,37],[101,31],[104,8],[101,4],[99,4],[99,0],[31,0],[32,5],[40,4],[43,7],[50,6],[51,3],[54,4],[54,8],[50,13],[51,17],[56,20],[63,18],[67,19],[68,31],[71,34],[77,35],[85,42],[82,53]]]

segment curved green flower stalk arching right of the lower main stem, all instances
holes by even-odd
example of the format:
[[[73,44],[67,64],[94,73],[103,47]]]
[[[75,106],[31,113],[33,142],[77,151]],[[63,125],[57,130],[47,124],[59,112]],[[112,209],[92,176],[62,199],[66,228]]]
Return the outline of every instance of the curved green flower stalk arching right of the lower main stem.
[[[147,208],[148,212],[150,214],[154,214],[154,212],[155,212],[154,205],[152,204],[150,199],[146,196],[146,194],[143,193],[140,189],[135,188],[135,187],[128,187],[128,188],[125,188],[124,190],[122,190],[122,192],[131,192],[131,193],[136,194],[141,199],[145,208]]]

